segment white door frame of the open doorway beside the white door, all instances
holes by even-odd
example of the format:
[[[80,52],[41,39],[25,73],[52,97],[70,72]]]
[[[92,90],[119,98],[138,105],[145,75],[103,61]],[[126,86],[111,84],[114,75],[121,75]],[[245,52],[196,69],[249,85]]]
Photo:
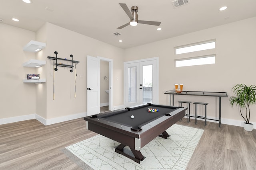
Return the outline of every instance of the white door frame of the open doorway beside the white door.
[[[107,61],[108,62],[108,110],[112,111],[113,108],[113,59],[108,59],[104,57],[97,56],[100,61]]]

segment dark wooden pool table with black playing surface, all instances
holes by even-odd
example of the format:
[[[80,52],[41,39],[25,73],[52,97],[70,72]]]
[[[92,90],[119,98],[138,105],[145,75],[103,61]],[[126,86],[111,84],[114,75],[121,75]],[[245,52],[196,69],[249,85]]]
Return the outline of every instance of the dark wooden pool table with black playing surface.
[[[148,108],[158,109],[148,112]],[[160,136],[167,139],[166,129],[185,116],[187,107],[142,104],[88,117],[87,129],[120,143],[115,151],[140,163],[144,156],[140,149]],[[132,118],[132,115],[134,118]],[[130,147],[126,149],[124,147]]]

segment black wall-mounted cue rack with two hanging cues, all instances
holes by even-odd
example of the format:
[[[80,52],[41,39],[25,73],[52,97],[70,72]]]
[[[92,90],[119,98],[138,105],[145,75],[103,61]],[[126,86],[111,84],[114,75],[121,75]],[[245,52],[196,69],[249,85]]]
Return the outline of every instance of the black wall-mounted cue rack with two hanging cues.
[[[79,63],[79,61],[74,61],[73,60],[73,55],[70,55],[71,57],[71,60],[68,60],[68,59],[62,59],[62,58],[58,58],[57,55],[58,55],[58,52],[57,51],[54,51],[54,54],[56,54],[56,57],[50,57],[48,56],[48,59],[50,60],[56,60],[56,64],[54,64],[53,62],[53,65],[56,65],[56,68],[54,68],[54,71],[57,71],[58,70],[58,66],[61,66],[61,67],[69,67],[71,68],[70,72],[73,72],[73,63],[75,63],[75,98],[76,98],[76,64]],[[58,63],[58,60],[64,60],[64,61],[71,61],[72,62],[72,65],[68,65],[68,64],[63,64],[63,63]],[[54,91],[55,91],[55,88],[54,88],[54,79],[55,79],[55,75],[54,75],[54,71],[53,71],[53,100],[55,98],[55,95],[54,95]]]

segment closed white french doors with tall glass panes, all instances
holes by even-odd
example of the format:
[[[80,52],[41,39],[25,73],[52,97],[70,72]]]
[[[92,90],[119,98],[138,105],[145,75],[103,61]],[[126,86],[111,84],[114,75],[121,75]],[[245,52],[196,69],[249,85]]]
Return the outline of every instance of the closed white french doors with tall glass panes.
[[[156,60],[125,63],[126,107],[158,102]]]

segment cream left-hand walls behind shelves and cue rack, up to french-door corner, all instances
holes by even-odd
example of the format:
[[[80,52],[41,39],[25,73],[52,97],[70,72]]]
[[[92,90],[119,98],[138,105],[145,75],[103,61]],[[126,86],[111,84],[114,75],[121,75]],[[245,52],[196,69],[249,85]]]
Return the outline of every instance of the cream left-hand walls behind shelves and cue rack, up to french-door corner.
[[[46,23],[36,33],[10,25],[0,24],[1,67],[1,114],[0,124],[37,118],[44,124],[65,121],[77,116],[85,116],[87,111],[87,55],[101,56],[114,60],[113,106],[123,105],[123,53],[124,50],[86,37],[74,31]],[[38,53],[23,51],[30,40],[46,43]],[[82,78],[76,79],[76,98],[74,98],[74,72],[69,68],[58,67],[54,72],[53,61],[47,57],[80,61],[76,73]],[[22,63],[29,59],[45,60],[41,68],[26,68]],[[62,61],[59,61],[62,62]],[[63,63],[63,62],[62,62]],[[46,83],[23,83],[27,73],[40,73]],[[55,73],[55,100],[53,100],[53,72]],[[117,78],[118,77],[118,78]],[[36,114],[36,115],[35,115]]]

